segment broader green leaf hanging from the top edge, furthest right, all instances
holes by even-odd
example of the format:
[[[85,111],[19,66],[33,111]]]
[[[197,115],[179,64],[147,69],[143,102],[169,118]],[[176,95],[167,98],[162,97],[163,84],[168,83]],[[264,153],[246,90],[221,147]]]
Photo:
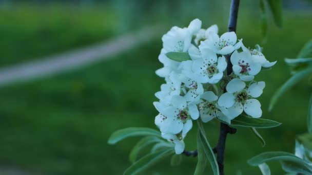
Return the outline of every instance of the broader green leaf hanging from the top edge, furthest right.
[[[266,0],[272,13],[275,24],[282,28],[282,2],[281,0]]]

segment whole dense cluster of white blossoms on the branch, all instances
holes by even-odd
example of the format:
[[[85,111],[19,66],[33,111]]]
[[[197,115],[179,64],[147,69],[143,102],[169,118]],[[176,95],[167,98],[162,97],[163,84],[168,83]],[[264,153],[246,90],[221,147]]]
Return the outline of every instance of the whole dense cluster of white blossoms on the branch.
[[[261,117],[261,104],[255,98],[262,94],[265,82],[253,79],[262,68],[276,63],[267,61],[259,46],[247,49],[235,32],[219,36],[217,25],[206,30],[201,25],[201,20],[194,19],[187,28],[172,27],[162,37],[159,60],[164,67],[156,74],[166,83],[155,94],[159,99],[153,103],[159,111],[155,124],[162,137],[175,144],[176,154],[183,152],[193,120],[230,124],[243,112]],[[187,53],[190,59],[175,61],[167,56],[169,52]],[[227,61],[233,70],[229,75]]]

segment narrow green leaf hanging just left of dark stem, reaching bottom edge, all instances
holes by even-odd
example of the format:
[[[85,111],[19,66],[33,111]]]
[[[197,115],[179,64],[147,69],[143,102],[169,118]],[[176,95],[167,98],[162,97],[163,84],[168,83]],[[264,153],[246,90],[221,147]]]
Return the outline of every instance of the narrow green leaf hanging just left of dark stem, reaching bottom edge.
[[[198,152],[198,154],[203,154],[206,160],[209,161],[213,174],[219,175],[219,166],[217,163],[217,159],[214,156],[213,150],[206,138],[206,134],[204,131],[204,127],[200,120],[197,120],[198,123],[198,142],[202,147],[202,152]]]

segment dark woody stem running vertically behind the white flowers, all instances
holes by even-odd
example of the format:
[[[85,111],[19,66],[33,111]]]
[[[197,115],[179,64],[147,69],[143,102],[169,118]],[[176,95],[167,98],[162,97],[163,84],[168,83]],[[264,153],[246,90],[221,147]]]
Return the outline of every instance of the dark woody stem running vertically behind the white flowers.
[[[237,16],[238,16],[238,9],[239,9],[240,0],[232,0],[231,7],[230,7],[230,16],[228,22],[228,31],[229,32],[236,32],[236,25],[237,25]],[[227,75],[230,75],[232,70],[232,64],[230,61],[231,54],[226,56],[227,60]],[[217,144],[217,162],[219,166],[219,173],[220,175],[224,175],[224,151],[225,151],[225,141],[227,134],[235,134],[236,129],[231,128],[229,125],[225,123],[220,124],[220,133],[219,133],[219,140]]]

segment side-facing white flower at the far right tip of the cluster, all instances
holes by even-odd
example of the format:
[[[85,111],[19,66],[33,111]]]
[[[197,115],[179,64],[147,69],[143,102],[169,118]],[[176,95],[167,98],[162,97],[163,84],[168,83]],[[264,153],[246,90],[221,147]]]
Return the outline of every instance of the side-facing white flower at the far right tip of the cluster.
[[[263,68],[270,68],[276,64],[277,61],[269,62],[268,60],[266,60],[264,55],[261,53],[262,49],[259,45],[256,45],[256,48],[257,49],[249,50],[244,45],[242,45],[243,51],[244,52],[250,52],[251,59],[257,63],[260,63]]]

